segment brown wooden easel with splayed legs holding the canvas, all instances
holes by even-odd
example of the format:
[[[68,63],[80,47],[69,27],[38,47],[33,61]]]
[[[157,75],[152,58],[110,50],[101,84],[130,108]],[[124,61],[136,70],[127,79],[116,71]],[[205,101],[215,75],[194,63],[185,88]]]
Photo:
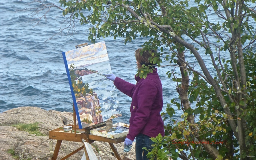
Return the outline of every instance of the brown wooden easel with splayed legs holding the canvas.
[[[75,47],[80,48],[80,47],[87,46],[87,45],[88,45],[88,43],[84,43],[84,44],[76,45]],[[102,122],[100,124],[96,124],[96,125],[93,125],[90,127],[86,127],[84,129],[78,129],[79,126],[76,125],[76,111],[74,109],[74,104],[73,104],[73,120],[74,120],[74,124],[69,124],[69,125],[72,125],[72,131],[74,131],[72,133],[62,132],[63,129],[61,129],[61,128],[57,128],[57,129],[49,131],[49,138],[57,140],[55,150],[54,150],[51,160],[57,160],[62,141],[72,141],[72,142],[82,142],[82,143],[88,142],[90,144],[94,141],[108,142],[111,149],[113,150],[116,158],[118,160],[122,160],[120,155],[118,154],[114,144],[124,142],[126,136],[112,139],[112,138],[106,138],[106,137],[90,134],[91,129],[96,129],[96,128],[105,126],[106,125],[105,122]],[[78,151],[82,150],[83,148],[84,148],[84,152],[86,155],[86,160],[90,160],[84,143],[81,147],[79,147],[78,149],[69,153],[68,155],[61,158],[60,160],[67,159],[68,157],[72,156],[73,154],[77,153]]]

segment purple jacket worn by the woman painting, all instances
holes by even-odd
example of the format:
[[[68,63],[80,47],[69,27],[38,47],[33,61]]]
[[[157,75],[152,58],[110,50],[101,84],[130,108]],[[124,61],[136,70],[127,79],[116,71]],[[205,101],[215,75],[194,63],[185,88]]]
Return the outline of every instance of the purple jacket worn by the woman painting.
[[[160,112],[163,108],[162,83],[157,69],[149,73],[146,79],[136,77],[136,85],[116,77],[114,85],[124,94],[132,97],[130,129],[127,138],[134,140],[138,134],[156,137],[164,136],[164,123]]]

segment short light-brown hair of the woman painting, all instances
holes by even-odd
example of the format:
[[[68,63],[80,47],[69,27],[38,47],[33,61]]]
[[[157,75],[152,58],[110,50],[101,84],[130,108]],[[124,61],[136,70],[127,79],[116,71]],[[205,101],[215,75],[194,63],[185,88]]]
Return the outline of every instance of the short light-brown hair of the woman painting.
[[[137,62],[140,64],[140,66],[138,66],[139,68],[142,65],[145,65],[145,66],[152,65],[152,66],[150,66],[150,68],[156,67],[156,63],[153,64],[148,60],[150,57],[152,57],[152,55],[151,55],[152,53],[156,54],[157,51],[154,49],[142,51],[142,48],[138,48],[135,51],[135,58],[136,58]]]

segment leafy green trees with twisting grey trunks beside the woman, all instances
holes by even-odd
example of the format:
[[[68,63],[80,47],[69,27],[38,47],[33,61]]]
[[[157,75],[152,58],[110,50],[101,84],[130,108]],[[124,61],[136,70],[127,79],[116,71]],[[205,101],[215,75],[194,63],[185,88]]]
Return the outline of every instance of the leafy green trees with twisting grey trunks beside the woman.
[[[157,137],[158,148],[149,157],[159,151],[173,159],[255,158],[254,0],[60,0],[60,5],[70,23],[92,25],[93,43],[108,36],[123,37],[125,44],[148,37],[143,49],[159,51],[150,61],[170,63],[165,67],[177,82],[179,101],[168,104],[166,136]],[[173,65],[180,71],[171,71]],[[148,72],[142,67],[138,75]],[[172,118],[175,107],[183,110],[182,121]]]

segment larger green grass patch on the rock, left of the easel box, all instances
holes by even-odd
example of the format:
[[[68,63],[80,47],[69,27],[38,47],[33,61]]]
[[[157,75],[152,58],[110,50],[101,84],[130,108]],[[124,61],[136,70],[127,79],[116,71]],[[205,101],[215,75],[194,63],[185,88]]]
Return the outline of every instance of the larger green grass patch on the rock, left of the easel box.
[[[12,125],[13,127],[16,127],[18,130],[20,131],[26,131],[29,134],[35,134],[36,136],[47,136],[46,134],[43,134],[39,131],[39,126],[38,126],[39,122],[36,123],[18,123],[18,124],[14,124]]]

